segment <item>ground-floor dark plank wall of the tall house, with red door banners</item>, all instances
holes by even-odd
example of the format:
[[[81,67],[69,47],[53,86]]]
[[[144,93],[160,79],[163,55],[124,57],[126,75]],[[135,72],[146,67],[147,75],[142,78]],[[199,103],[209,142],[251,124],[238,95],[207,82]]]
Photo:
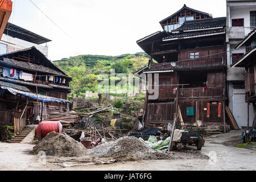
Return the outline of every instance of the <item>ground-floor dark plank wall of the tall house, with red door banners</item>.
[[[216,104],[212,104],[216,103]],[[180,100],[181,115],[184,123],[195,123],[203,121],[204,123],[221,124],[223,123],[223,100]],[[194,108],[194,115],[187,115],[187,107]],[[209,110],[209,115],[208,115]],[[169,123],[174,121],[175,104],[167,103],[150,103],[147,104],[146,123]]]

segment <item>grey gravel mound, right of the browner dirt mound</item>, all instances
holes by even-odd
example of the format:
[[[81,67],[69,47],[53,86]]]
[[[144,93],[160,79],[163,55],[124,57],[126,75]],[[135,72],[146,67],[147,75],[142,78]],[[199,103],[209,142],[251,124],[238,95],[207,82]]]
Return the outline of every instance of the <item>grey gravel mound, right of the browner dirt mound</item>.
[[[135,137],[122,137],[114,142],[101,144],[88,151],[89,155],[119,158],[122,160],[171,159],[167,152],[155,152],[147,144]]]

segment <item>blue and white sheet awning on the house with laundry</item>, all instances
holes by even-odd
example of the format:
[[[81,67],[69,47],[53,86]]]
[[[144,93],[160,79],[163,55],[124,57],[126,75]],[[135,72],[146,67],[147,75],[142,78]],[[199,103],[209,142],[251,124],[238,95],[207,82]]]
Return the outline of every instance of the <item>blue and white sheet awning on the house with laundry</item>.
[[[37,98],[38,98],[38,100],[42,101],[42,102],[63,102],[64,104],[66,102],[69,102],[68,100],[63,100],[61,98],[48,97],[48,96],[43,96],[43,95],[40,95],[40,94],[38,94],[38,97],[37,97],[36,94],[31,93],[31,92],[23,92],[23,91],[20,91],[20,90],[8,88],[8,87],[3,87],[3,86],[2,86],[2,89],[7,89],[7,90],[9,90],[10,93],[12,93],[14,95],[20,94],[22,96],[30,97],[30,98],[33,98],[35,100],[37,100]]]

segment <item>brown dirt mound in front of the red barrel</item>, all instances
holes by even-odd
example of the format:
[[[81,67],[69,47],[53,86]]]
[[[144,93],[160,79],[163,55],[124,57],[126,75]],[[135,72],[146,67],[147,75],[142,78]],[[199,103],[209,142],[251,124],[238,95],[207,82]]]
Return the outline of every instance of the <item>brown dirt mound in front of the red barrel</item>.
[[[33,148],[32,153],[38,154],[40,151],[53,156],[82,156],[86,154],[87,149],[67,134],[53,131]]]

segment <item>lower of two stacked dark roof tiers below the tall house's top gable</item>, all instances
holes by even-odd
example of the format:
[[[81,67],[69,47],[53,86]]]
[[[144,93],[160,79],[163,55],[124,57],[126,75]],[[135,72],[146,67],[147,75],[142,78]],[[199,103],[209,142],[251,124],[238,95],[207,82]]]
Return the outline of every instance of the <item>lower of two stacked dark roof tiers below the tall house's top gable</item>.
[[[213,29],[213,30],[204,30],[204,31],[192,31],[192,32],[180,32],[177,34],[172,33],[171,35],[163,38],[163,40],[174,39],[174,38],[185,38],[190,36],[199,36],[199,35],[208,35],[225,32],[225,28]]]

